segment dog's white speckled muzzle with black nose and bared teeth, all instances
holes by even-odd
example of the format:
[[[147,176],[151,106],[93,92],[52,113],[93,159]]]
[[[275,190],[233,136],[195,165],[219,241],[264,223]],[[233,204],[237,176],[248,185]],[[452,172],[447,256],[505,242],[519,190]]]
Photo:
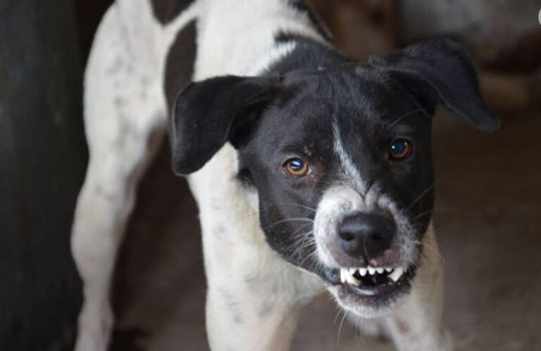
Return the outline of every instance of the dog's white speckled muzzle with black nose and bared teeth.
[[[314,227],[325,279],[342,307],[373,317],[409,291],[418,248],[406,219],[385,196],[332,189]]]

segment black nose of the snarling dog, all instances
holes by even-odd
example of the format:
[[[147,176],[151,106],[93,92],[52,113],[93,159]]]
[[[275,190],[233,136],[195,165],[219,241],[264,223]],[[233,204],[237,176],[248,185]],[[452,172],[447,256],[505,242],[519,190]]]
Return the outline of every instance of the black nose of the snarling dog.
[[[381,213],[356,213],[345,217],[338,229],[340,245],[352,257],[379,257],[391,248],[395,226]]]

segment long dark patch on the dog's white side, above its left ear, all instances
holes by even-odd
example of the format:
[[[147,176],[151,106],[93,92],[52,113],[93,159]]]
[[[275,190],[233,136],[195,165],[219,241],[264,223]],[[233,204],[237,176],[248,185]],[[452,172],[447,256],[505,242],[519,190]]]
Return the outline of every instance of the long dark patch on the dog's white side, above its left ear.
[[[178,32],[167,56],[164,88],[168,111],[173,109],[179,91],[192,81],[197,53],[196,34],[196,21],[193,20]]]

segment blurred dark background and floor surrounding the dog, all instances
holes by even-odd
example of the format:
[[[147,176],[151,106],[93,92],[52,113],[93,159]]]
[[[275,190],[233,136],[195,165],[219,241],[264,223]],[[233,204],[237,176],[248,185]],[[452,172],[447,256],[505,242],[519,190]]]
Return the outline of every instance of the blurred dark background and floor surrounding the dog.
[[[111,0],[0,0],[0,350],[71,350],[81,285],[70,224],[87,149],[82,72]],[[364,60],[431,37],[471,50],[493,134],[439,111],[435,226],[457,350],[541,350],[541,0],[313,0]],[[164,146],[118,259],[111,350],[208,350],[197,209]],[[180,236],[182,233],[190,235]],[[393,350],[323,296],[292,350]]]

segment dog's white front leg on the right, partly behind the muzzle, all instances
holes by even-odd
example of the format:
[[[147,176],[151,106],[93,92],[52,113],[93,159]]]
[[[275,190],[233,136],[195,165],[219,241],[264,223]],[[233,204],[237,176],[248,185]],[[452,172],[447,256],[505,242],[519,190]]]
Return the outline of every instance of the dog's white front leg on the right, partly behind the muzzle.
[[[400,351],[452,351],[452,337],[442,323],[443,269],[432,226],[423,238],[423,253],[411,293],[387,318]]]

